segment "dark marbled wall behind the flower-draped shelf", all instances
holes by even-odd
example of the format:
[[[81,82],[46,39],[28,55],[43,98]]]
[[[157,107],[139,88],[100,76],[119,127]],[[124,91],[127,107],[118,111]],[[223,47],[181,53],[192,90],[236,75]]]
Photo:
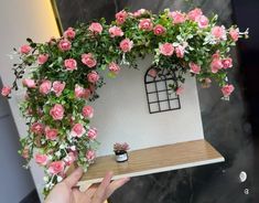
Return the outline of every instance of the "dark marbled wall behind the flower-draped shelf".
[[[233,51],[235,70],[229,79],[236,90],[229,103],[220,100],[219,89],[198,87],[205,139],[225,157],[226,162],[132,178],[110,199],[114,203],[257,203],[259,202],[259,1],[258,0],[56,0],[64,29],[77,21],[112,20],[128,7],[154,13],[170,8],[187,11],[201,7],[205,14],[218,13],[219,21],[250,29]],[[177,156],[177,154],[173,154]],[[248,175],[239,181],[239,173]]]

